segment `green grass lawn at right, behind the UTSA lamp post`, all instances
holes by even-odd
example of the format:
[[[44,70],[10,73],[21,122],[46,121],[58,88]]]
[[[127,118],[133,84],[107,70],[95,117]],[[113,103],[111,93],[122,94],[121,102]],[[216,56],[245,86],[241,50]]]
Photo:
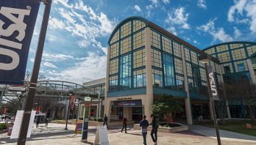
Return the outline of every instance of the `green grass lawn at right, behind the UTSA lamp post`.
[[[213,122],[200,122],[199,124],[206,127],[214,127]],[[256,124],[252,124],[252,128],[247,128],[246,124],[251,124],[250,120],[226,120],[225,124],[218,122],[218,128],[220,130],[256,136]]]

